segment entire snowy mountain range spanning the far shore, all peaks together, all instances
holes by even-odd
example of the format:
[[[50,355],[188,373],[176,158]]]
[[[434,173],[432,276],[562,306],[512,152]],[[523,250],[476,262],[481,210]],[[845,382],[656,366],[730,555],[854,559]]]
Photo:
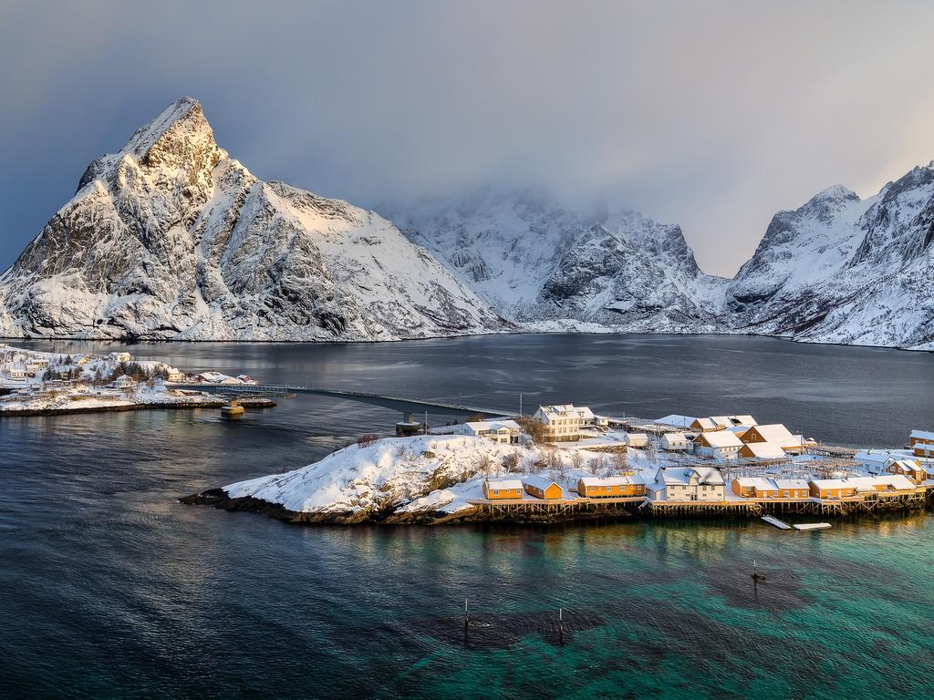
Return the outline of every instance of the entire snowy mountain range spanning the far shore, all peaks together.
[[[723,279],[680,227],[484,189],[373,212],[263,182],[185,97],[93,161],[0,275],[0,336],[383,341],[756,333],[934,350],[934,161],[772,217]],[[402,231],[400,231],[402,230]]]

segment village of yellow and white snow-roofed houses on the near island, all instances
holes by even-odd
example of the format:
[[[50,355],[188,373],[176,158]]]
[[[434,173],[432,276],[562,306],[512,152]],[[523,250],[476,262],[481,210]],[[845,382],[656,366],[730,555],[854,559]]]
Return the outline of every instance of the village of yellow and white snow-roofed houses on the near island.
[[[484,479],[482,495],[469,502],[494,516],[628,506],[657,516],[843,515],[924,507],[934,489],[934,432],[925,430],[913,430],[901,449],[857,451],[748,414],[647,421],[562,404],[432,432],[536,443],[559,455],[539,471]],[[549,468],[562,461],[570,468]]]

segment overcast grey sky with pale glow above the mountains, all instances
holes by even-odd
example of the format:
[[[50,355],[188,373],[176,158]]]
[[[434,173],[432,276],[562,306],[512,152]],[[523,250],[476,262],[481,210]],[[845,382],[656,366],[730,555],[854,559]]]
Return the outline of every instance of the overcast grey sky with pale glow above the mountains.
[[[0,268],[183,94],[264,179],[370,207],[607,196],[727,276],[777,210],[934,159],[926,0],[0,7]]]

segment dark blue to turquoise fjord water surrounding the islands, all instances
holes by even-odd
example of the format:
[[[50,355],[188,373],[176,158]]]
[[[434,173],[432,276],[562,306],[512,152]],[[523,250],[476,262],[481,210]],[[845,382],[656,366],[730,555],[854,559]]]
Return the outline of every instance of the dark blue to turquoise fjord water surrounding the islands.
[[[899,445],[934,420],[929,354],[758,338],[128,349],[187,370],[491,409],[515,411],[521,391],[527,408],[754,413],[844,444]],[[304,465],[399,417],[300,397],[235,423],[216,411],[0,419],[0,696],[934,694],[927,513],[807,534],[757,522],[297,527],[176,502]],[[756,587],[754,559],[769,574]]]

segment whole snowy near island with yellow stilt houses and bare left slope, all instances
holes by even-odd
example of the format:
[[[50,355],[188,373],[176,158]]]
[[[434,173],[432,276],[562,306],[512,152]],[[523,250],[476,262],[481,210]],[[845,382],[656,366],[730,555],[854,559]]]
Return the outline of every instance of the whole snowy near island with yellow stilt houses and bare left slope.
[[[629,421],[565,404],[532,418],[363,436],[301,469],[182,501],[292,523],[438,524],[849,515],[923,508],[934,490],[931,432],[913,431],[903,450],[857,452],[751,415]]]

